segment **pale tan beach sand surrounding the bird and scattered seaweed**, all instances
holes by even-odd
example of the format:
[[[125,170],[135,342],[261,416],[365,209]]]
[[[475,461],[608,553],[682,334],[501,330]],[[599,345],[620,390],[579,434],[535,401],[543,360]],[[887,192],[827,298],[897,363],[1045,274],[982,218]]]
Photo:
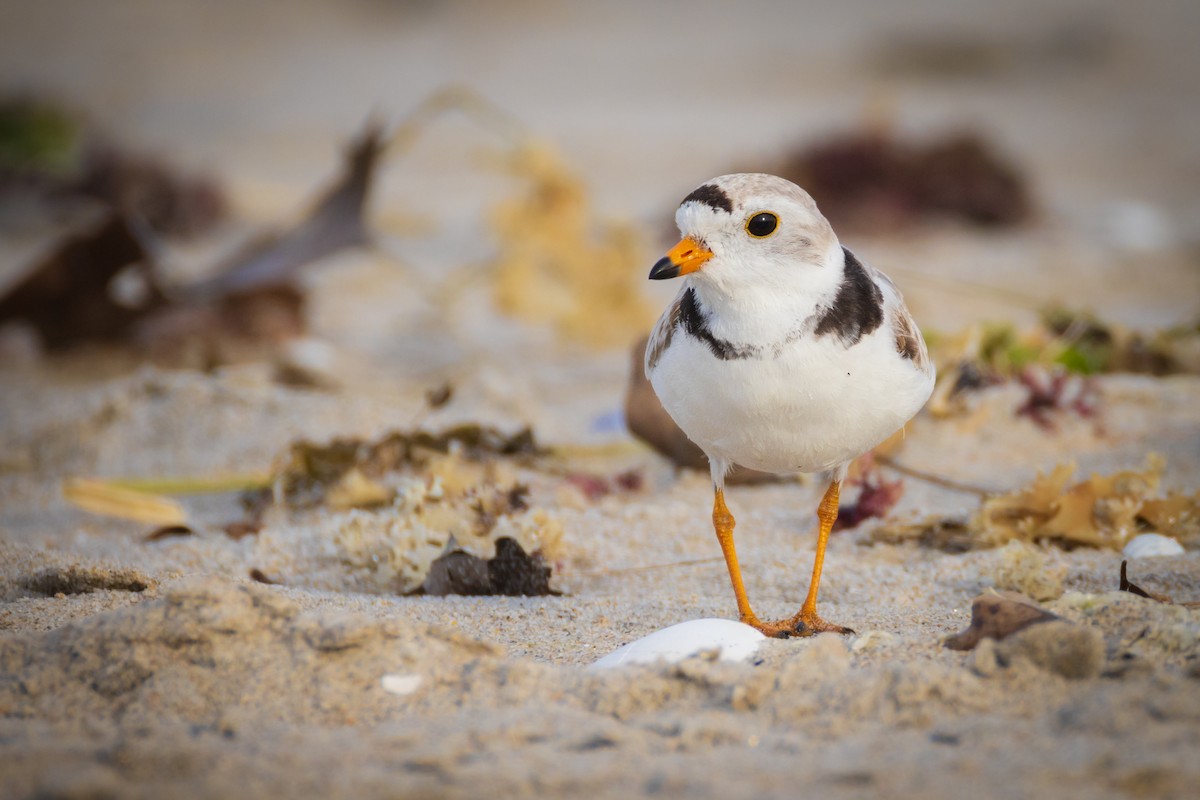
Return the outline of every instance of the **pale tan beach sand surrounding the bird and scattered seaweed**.
[[[600,212],[643,231],[648,269],[671,243],[670,209],[696,182],[750,150],[853,122],[877,96],[905,130],[966,121],[994,136],[1040,203],[1039,222],[1012,233],[935,225],[847,241],[893,275],[925,327],[1027,324],[1052,299],[1144,329],[1195,320],[1200,67],[1187,4],[926,2],[905,20],[850,7],[820,24],[764,6],[788,23],[769,31],[697,11],[700,32],[737,31],[726,59],[672,37],[674,13],[620,4],[601,14],[313,2],[287,16],[250,4],[220,19],[187,5],[119,4],[103,19],[54,5],[2,12],[2,72],[217,170],[239,224],[295,211],[367,109],[398,114],[458,80],[558,144]],[[1063,30],[1082,44],[1062,46]],[[922,36],[998,49],[954,78],[881,72],[882,43]],[[72,58],[35,58],[35,43]],[[106,48],[127,56],[102,60]],[[556,59],[571,83],[534,80],[533,65]],[[101,66],[84,68],[92,60]],[[294,96],[276,97],[281,86]],[[1200,781],[1200,610],[1116,591],[1115,551],[1051,548],[1061,585],[1044,606],[1061,620],[959,652],[942,640],[967,626],[976,596],[1013,582],[1012,559],[874,545],[884,523],[869,521],[833,537],[822,581],[822,613],[856,634],[767,642],[752,663],[697,655],[589,672],[654,630],[733,614],[710,487],[614,425],[623,347],[504,318],[481,267],[449,311],[422,294],[430,276],[480,264],[481,209],[512,191],[464,169],[480,146],[454,124],[426,142],[377,199],[385,246],[306,276],[312,333],[338,356],[335,389],[278,384],[269,354],[209,373],[110,348],[6,354],[0,796],[1187,796]],[[404,215],[442,227],[412,239],[389,227]],[[29,243],[2,248],[7,276]],[[660,290],[647,287],[654,305]],[[448,380],[452,401],[426,409],[425,392]],[[1098,386],[1100,417],[1064,415],[1054,431],[1014,415],[1018,386],[984,390],[967,414],[914,420],[895,458],[1004,491],[1063,461],[1085,476],[1158,452],[1164,488],[1196,491],[1200,378]],[[236,495],[191,497],[194,535],[146,541],[148,525],[60,495],[68,477],[252,473],[300,438],[458,422],[529,425],[557,449],[512,469],[562,525],[562,595],[401,596],[348,559],[338,531],[350,512],[272,513],[234,540],[221,525],[242,516]],[[626,470],[640,488],[592,500],[566,480]],[[972,494],[904,481],[892,522],[978,507]],[[803,599],[822,489],[728,489],[764,616]],[[1146,589],[1200,600],[1195,551],[1129,570]]]

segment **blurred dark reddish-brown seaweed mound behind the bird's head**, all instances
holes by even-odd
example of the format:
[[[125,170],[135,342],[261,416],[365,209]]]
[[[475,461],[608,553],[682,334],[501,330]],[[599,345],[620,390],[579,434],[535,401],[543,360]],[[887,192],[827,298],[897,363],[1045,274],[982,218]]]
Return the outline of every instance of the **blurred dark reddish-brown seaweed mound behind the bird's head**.
[[[764,172],[803,186],[835,228],[894,230],[935,218],[1000,228],[1033,216],[1024,175],[971,132],[913,143],[864,127],[798,148]]]

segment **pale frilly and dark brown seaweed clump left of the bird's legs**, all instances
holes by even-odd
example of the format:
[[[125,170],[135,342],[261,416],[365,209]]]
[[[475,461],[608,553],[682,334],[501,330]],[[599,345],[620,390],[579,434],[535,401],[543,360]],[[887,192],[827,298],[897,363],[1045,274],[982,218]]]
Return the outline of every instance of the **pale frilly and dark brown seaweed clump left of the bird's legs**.
[[[542,455],[529,428],[394,431],[374,440],[299,441],[251,513],[334,513],[332,545],[364,591],[546,594],[562,523],[518,476]],[[506,540],[506,541],[505,541]]]

